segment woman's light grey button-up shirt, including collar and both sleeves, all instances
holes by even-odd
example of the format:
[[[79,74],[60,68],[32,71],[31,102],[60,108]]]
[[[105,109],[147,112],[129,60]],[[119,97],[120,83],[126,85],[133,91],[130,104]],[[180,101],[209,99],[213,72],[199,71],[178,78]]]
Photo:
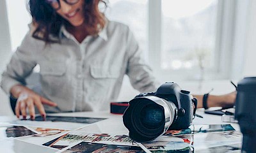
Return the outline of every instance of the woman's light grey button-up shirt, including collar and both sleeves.
[[[2,75],[4,91],[26,84],[36,64],[41,95],[58,104],[45,106],[47,112],[108,110],[109,102],[118,98],[124,75],[140,92],[156,90],[158,84],[126,25],[108,21],[97,36],[87,36],[82,43],[63,26],[60,40],[45,46],[26,34]]]

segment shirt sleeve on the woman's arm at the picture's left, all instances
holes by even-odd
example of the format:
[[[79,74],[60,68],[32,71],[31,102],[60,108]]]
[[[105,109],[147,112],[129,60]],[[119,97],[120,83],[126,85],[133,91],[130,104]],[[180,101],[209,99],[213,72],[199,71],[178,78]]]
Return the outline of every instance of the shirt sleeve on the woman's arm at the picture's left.
[[[20,47],[12,55],[1,80],[1,87],[6,94],[10,94],[10,89],[14,85],[26,85],[26,77],[31,74],[36,66],[35,51],[38,48],[36,48],[35,43],[35,38],[28,32]]]

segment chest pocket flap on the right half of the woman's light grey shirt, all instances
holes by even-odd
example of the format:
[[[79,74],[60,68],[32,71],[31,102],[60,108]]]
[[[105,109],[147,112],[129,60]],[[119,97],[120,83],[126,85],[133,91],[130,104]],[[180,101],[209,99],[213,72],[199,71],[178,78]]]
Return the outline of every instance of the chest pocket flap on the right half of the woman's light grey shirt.
[[[95,79],[111,79],[118,78],[120,70],[118,68],[108,68],[106,66],[90,66],[90,74]]]

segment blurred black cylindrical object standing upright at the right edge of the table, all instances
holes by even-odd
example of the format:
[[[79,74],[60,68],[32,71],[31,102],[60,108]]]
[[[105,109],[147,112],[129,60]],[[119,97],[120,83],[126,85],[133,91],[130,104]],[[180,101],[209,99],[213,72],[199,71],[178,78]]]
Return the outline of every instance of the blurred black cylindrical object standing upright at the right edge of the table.
[[[255,152],[256,77],[246,77],[238,82],[235,118],[243,133],[242,152]]]

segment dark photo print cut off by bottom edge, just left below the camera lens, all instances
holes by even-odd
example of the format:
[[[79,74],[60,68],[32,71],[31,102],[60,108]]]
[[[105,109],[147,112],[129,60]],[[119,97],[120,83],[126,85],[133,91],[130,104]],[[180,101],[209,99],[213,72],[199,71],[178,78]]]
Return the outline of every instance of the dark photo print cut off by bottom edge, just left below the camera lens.
[[[68,150],[65,153],[75,152],[92,152],[92,153],[136,153],[145,152],[141,147],[127,146],[127,145],[109,145],[104,143],[81,142]]]

